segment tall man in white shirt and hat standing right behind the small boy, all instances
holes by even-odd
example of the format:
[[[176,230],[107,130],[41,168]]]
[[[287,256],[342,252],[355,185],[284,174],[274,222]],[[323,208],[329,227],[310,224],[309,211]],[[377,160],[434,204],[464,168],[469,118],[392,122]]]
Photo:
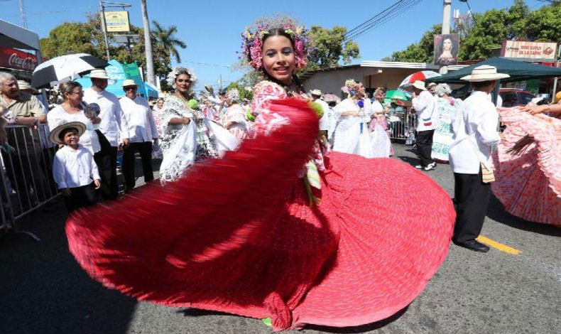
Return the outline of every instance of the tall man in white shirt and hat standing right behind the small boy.
[[[92,87],[84,90],[84,102],[87,104],[97,103],[99,105],[99,130],[96,130],[99,144],[102,150],[94,154],[95,162],[102,176],[102,197],[105,200],[113,200],[118,195],[117,185],[117,149],[129,146],[126,132],[126,120],[119,99],[107,92],[107,72],[105,70],[92,70],[89,77],[92,79]]]

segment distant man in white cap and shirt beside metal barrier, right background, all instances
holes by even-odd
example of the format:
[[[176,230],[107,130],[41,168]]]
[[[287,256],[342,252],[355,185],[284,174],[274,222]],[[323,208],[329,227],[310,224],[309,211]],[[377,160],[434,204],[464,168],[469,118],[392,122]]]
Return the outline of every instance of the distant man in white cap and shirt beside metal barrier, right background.
[[[435,109],[435,98],[425,88],[425,82],[413,82],[413,109],[417,114],[417,151],[420,165],[415,168],[430,171],[436,167],[430,156],[432,151],[432,135],[435,134],[435,122],[432,114]]]

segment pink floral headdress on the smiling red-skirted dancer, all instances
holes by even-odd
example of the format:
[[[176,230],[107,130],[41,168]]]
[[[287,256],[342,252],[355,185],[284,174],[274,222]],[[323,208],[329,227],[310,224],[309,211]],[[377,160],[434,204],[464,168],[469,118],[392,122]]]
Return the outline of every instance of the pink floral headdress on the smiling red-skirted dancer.
[[[282,19],[279,22],[256,23],[253,29],[246,28],[241,34],[241,57],[245,58],[251,67],[261,70],[263,67],[263,37],[271,29],[282,29],[294,41],[294,55],[296,58],[296,68],[304,68],[308,54],[307,45],[310,39],[307,30],[303,26],[297,26],[292,19]]]

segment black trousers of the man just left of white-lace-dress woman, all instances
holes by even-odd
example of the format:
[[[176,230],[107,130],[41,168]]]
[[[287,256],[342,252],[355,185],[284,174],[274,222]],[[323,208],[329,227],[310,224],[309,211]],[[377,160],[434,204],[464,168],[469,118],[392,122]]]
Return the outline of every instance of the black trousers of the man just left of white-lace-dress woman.
[[[142,171],[144,182],[154,179],[152,171],[152,142],[143,141],[142,143],[131,143],[123,150],[123,176],[125,178],[125,191],[134,189],[134,153],[140,153],[142,159]]]

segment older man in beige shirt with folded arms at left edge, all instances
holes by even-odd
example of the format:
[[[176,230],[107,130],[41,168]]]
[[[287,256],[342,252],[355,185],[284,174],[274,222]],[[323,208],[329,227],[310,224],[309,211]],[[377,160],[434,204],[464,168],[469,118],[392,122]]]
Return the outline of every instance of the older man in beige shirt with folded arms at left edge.
[[[46,122],[45,112],[38,99],[19,89],[16,77],[0,72],[0,114],[9,125],[25,126],[13,129],[8,136],[8,144],[15,151],[2,152],[6,171],[16,185],[21,199],[22,211],[31,208],[35,199],[44,200],[47,178],[40,168],[40,137],[37,131],[40,123]],[[35,194],[35,198],[32,193]]]

